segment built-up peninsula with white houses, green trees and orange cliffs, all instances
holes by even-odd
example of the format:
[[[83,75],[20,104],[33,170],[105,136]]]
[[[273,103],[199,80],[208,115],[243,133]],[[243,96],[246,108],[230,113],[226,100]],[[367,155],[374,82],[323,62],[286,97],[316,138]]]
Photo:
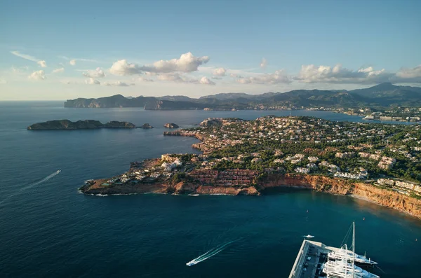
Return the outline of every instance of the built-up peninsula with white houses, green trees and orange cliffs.
[[[164,135],[196,137],[193,147],[203,153],[132,162],[128,172],[88,181],[81,192],[260,195],[293,186],[353,195],[421,218],[420,125],[208,118]]]

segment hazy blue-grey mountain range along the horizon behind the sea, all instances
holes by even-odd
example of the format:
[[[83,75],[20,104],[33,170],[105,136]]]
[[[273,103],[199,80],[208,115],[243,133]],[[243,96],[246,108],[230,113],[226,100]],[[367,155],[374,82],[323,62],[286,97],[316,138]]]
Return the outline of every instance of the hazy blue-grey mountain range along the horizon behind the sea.
[[[249,95],[243,92],[207,95],[194,99],[185,96],[69,99],[65,107],[114,108],[143,107],[147,110],[192,109],[285,109],[300,107],[357,108],[361,106],[421,106],[421,88],[381,83],[359,90],[293,90]]]

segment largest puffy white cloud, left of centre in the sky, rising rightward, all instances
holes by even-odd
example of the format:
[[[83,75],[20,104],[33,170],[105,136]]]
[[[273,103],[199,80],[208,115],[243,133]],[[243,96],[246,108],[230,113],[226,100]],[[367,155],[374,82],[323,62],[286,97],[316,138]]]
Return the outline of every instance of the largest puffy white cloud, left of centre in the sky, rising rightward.
[[[192,53],[185,53],[179,59],[160,60],[154,64],[140,67],[138,64],[129,64],[127,60],[114,62],[109,71],[117,76],[140,74],[143,71],[151,73],[174,73],[197,71],[199,66],[209,61],[208,56],[195,57]]]

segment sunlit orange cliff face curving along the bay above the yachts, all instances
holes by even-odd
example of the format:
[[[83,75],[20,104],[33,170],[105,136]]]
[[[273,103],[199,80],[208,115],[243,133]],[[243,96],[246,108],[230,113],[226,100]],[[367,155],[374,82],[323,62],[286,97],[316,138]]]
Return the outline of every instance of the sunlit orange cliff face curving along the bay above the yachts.
[[[351,181],[333,179],[328,176],[277,174],[268,176],[265,181],[260,182],[258,185],[260,190],[279,186],[309,188],[332,194],[353,195],[354,197],[360,197],[384,207],[397,209],[421,218],[421,200],[366,183],[352,183]]]

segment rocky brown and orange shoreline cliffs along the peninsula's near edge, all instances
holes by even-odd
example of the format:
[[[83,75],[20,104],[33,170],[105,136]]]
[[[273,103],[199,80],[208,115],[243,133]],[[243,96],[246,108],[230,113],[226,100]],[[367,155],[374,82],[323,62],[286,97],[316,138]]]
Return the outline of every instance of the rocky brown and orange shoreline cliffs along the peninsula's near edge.
[[[142,183],[121,186],[100,186],[105,179],[98,179],[80,188],[88,195],[126,195],[133,193],[166,193],[175,195],[262,195],[267,188],[307,188],[323,193],[347,195],[373,202],[421,218],[421,200],[377,188],[362,182],[308,174],[272,174],[255,186],[201,186],[195,183]]]

